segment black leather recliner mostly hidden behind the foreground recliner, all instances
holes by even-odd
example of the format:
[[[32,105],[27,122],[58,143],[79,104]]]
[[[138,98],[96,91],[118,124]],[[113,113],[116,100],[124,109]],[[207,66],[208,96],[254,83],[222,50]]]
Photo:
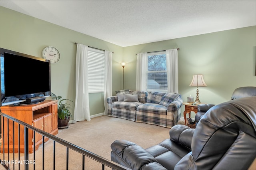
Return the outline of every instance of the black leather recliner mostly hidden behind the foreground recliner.
[[[242,97],[250,97],[256,96],[256,87],[239,87],[234,90],[231,100],[239,99]],[[195,116],[196,125],[200,121],[201,117],[210,109],[212,108],[213,104],[199,104],[197,107],[197,113]]]

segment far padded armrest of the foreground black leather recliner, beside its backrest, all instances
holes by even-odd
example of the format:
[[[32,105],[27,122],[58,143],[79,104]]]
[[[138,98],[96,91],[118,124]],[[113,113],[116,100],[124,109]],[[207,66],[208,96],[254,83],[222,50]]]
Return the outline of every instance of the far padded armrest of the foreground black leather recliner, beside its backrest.
[[[169,131],[170,140],[178,142],[179,144],[191,150],[191,143],[194,130],[194,128],[190,128],[186,125],[175,125]]]

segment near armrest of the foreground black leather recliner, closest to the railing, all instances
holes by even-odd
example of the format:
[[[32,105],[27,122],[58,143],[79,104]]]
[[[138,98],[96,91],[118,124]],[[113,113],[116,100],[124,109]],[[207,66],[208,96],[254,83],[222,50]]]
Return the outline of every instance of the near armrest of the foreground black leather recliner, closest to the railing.
[[[150,153],[141,146],[127,140],[116,140],[111,144],[112,152],[115,152],[122,160],[136,170],[166,170]],[[117,162],[118,163],[118,162]]]

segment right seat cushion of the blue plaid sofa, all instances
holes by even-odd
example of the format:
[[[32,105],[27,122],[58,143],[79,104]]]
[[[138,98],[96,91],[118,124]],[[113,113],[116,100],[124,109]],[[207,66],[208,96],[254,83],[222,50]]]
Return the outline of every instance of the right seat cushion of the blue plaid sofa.
[[[137,107],[137,111],[146,112],[146,113],[154,113],[159,115],[166,115],[167,114],[167,107],[163,105],[159,105],[156,103],[145,103],[139,105]]]

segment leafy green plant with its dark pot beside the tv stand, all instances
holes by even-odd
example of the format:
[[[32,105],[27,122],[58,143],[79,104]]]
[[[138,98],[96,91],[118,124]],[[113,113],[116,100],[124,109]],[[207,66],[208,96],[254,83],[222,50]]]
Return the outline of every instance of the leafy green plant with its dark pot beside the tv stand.
[[[62,99],[62,96],[56,96],[52,93],[54,98],[59,101],[58,104],[58,128],[66,128],[68,126],[68,122],[70,117],[72,117],[70,113],[71,105],[69,103],[64,103],[65,101],[71,101],[70,99]]]

